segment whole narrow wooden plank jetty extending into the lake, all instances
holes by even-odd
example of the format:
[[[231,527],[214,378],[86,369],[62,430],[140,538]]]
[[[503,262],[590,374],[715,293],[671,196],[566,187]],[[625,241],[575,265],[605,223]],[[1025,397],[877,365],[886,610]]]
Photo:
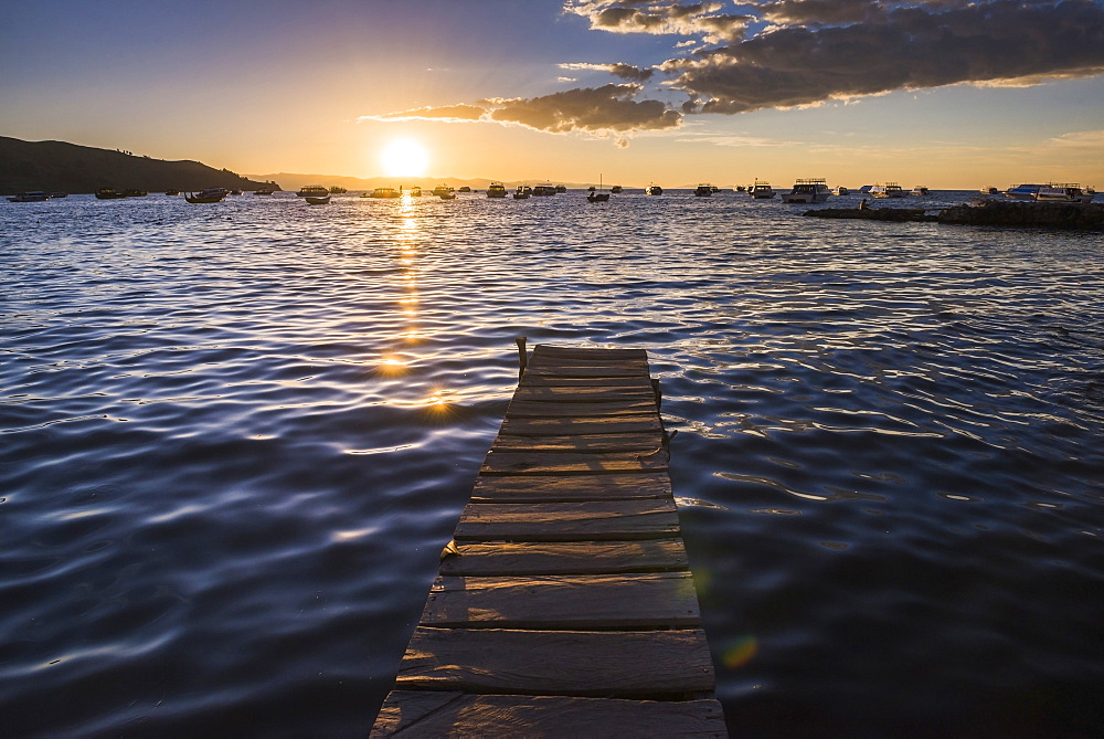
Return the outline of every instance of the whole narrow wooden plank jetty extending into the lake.
[[[728,736],[647,352],[519,349],[372,736]]]

